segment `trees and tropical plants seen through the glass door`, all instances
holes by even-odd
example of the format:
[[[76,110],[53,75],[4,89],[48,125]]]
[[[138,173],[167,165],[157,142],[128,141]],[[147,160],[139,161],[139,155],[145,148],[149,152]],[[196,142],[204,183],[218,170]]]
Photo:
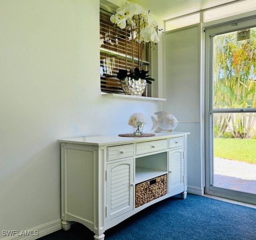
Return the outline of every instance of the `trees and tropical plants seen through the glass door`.
[[[214,108],[256,108],[256,28],[251,38],[237,41],[236,32],[214,37]],[[214,114],[214,136],[256,135],[256,114]]]

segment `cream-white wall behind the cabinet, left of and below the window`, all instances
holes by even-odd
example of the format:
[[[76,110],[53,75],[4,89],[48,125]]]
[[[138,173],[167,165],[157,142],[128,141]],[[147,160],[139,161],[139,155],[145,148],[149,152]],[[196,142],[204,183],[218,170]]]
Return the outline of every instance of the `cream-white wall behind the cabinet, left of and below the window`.
[[[0,239],[8,239],[2,230],[41,237],[60,228],[57,139],[131,132],[133,112],[150,130],[150,116],[163,110],[162,102],[100,94],[99,6],[0,1]]]

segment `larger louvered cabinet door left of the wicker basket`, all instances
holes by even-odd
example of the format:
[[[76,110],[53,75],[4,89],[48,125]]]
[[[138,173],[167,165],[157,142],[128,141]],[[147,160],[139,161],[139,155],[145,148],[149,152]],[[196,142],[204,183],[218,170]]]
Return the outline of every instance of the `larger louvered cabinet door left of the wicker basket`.
[[[107,221],[133,209],[134,159],[107,165]]]

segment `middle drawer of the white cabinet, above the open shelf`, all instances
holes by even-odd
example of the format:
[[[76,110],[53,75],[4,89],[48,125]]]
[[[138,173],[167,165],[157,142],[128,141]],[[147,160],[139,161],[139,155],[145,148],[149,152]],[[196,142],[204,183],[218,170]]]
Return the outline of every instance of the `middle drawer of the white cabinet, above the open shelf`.
[[[167,149],[167,139],[136,144],[136,155]]]

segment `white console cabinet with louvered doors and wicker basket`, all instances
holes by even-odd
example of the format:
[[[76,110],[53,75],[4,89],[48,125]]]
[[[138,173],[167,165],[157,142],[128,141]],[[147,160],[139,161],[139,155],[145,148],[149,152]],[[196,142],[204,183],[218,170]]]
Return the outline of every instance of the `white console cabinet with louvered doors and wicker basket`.
[[[72,221],[80,222],[95,233],[95,240],[104,240],[105,230],[140,210],[177,194],[185,199],[188,134],[58,140],[63,229],[68,230]],[[158,190],[160,178],[166,179],[160,184],[166,191],[161,190],[152,201],[145,195],[146,202],[136,207],[136,187],[148,183]]]

